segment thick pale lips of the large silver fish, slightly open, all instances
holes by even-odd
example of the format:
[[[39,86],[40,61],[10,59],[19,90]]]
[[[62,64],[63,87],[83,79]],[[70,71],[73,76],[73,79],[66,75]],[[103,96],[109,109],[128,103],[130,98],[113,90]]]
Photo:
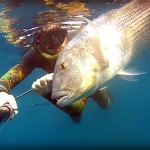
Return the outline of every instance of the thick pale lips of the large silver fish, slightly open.
[[[59,107],[65,107],[72,103],[73,95],[71,91],[56,91],[52,92],[51,98],[57,99],[57,105]]]

